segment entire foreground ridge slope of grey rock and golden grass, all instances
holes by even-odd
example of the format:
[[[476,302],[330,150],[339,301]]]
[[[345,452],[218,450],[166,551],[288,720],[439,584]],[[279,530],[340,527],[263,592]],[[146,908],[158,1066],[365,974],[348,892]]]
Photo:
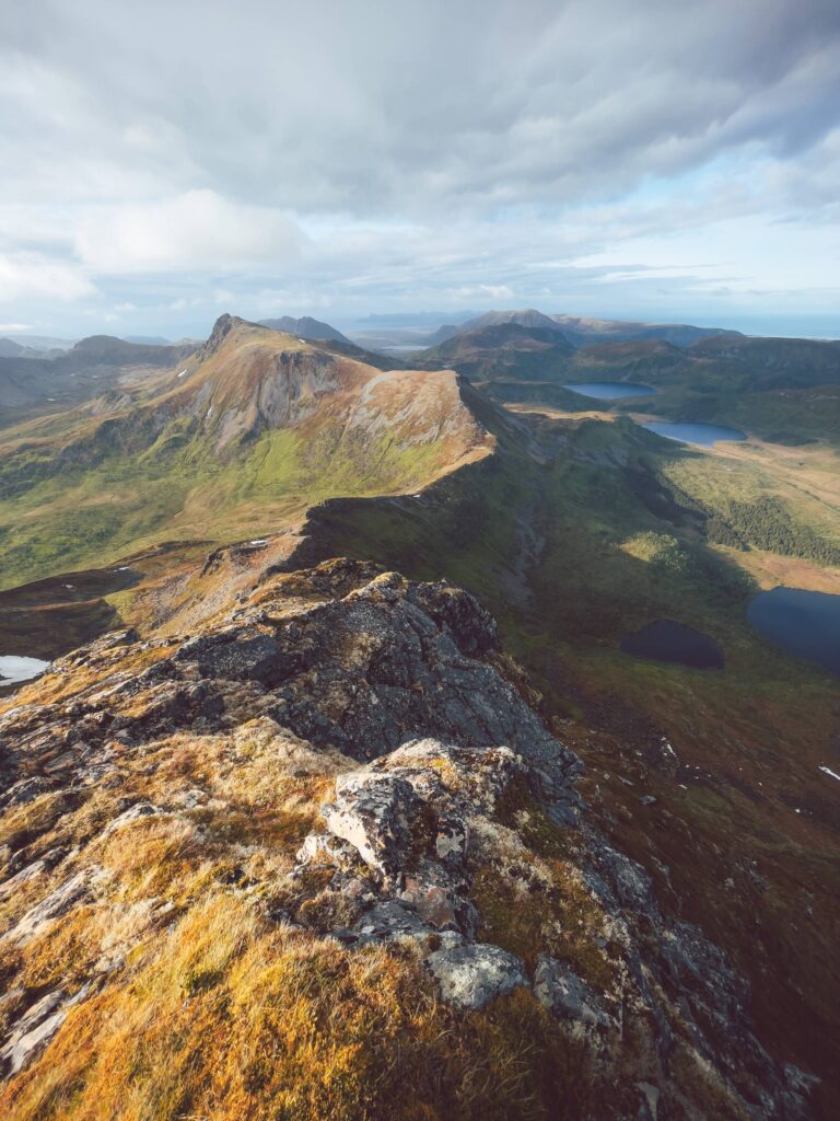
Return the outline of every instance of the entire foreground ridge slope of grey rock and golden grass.
[[[472,596],[335,560],[0,706],[3,1115],[809,1118],[523,692]]]

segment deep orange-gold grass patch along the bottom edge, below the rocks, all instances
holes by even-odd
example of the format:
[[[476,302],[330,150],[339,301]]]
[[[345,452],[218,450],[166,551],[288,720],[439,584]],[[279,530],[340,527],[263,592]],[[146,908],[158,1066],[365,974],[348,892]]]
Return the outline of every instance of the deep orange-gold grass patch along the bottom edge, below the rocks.
[[[73,1010],[9,1121],[584,1117],[592,1078],[521,991],[466,1017],[410,949],[351,952],[213,893]],[[564,1102],[562,1114],[559,1103]]]

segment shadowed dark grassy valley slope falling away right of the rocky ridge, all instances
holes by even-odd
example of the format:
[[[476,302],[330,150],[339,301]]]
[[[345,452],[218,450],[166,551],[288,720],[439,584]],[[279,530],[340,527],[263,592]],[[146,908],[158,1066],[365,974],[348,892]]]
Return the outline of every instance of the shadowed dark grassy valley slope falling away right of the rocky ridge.
[[[420,502],[319,510],[315,547],[446,575],[479,594],[544,691],[558,731],[589,762],[586,793],[617,843],[659,867],[662,896],[752,976],[780,1053],[836,1068],[840,814],[818,766],[832,758],[837,682],[752,631],[749,565],[706,540],[702,519],[657,483],[676,475],[700,501],[728,479],[735,490],[767,485],[768,466],[721,466],[625,425],[534,423],[545,462],[502,434],[500,456],[440,481]],[[787,487],[778,490],[790,501]],[[815,513],[814,522],[825,528]],[[525,534],[524,546],[523,526],[536,535],[529,544]],[[618,651],[620,634],[661,617],[717,638],[726,668]],[[674,775],[663,770],[661,734],[680,758]],[[640,805],[643,793],[656,808]]]

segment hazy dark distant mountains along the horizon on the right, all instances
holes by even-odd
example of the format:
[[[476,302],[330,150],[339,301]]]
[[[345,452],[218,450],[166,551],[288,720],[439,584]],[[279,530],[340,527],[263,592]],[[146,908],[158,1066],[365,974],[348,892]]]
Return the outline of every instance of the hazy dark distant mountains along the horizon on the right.
[[[451,367],[505,404],[579,411],[591,399],[570,386],[643,383],[655,387],[655,409],[670,419],[735,424],[785,444],[840,437],[840,342],[562,319],[489,313],[412,362]]]

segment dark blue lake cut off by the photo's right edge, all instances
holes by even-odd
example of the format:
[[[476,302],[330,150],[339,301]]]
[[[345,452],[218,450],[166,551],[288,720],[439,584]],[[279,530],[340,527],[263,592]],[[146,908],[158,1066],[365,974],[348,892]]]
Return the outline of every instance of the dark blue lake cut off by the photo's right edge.
[[[774,587],[756,595],[747,619],[787,654],[840,677],[840,595]]]

